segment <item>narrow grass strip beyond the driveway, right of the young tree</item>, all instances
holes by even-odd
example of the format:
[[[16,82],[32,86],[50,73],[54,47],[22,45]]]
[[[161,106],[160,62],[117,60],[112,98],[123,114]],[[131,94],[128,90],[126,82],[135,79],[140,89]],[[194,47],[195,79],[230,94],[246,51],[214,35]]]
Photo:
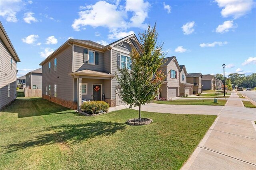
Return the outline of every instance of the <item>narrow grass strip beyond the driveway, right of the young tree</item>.
[[[173,100],[173,101],[153,101],[153,103],[166,104],[166,105],[211,105],[211,106],[224,106],[226,100],[218,100],[218,103],[214,103],[213,99],[200,99],[200,100]]]

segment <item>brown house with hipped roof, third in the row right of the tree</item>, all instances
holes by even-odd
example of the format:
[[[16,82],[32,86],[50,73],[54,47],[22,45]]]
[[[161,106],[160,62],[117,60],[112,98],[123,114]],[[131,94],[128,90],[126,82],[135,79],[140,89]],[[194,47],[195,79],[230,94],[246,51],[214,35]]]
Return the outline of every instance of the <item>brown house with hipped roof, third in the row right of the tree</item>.
[[[194,84],[193,94],[202,93],[202,73],[188,73],[187,82]]]

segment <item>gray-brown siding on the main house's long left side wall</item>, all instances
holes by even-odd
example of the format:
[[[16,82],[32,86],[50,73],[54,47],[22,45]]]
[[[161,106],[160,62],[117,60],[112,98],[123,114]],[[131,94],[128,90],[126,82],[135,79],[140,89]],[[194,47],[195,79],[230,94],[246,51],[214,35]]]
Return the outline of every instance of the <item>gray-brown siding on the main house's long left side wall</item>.
[[[57,70],[54,71],[54,59],[57,58]],[[48,63],[51,62],[51,73]],[[42,93],[46,94],[46,86],[51,85],[51,96],[54,96],[54,85],[57,85],[57,98],[73,101],[72,47],[67,45],[60,53],[42,65]],[[49,95],[49,94],[48,94]]]

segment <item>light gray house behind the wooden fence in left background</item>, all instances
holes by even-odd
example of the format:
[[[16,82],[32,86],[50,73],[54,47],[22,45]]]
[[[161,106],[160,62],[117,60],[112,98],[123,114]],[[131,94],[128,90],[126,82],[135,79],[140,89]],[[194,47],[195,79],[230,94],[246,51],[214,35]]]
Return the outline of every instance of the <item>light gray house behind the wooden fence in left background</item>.
[[[28,72],[25,77],[27,87],[31,89],[42,89],[42,67]]]

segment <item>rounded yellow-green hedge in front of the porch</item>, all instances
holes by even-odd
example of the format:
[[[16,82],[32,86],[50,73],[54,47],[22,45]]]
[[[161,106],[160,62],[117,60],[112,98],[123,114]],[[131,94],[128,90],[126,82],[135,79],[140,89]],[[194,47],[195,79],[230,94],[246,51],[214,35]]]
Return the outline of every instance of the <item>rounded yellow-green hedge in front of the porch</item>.
[[[107,112],[108,108],[108,103],[104,101],[87,101],[81,105],[81,110],[90,115]]]

